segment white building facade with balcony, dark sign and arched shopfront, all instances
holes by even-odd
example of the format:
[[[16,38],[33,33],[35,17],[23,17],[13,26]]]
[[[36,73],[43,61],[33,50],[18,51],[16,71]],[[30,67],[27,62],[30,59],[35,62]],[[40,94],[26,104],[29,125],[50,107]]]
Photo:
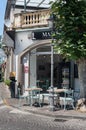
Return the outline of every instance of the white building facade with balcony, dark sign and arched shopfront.
[[[15,72],[17,85],[22,89],[40,86],[44,91],[51,85],[51,29],[50,0],[8,0],[5,33],[11,38],[10,72]],[[33,3],[33,4],[32,4]],[[5,44],[7,44],[5,40]],[[77,66],[73,61],[66,62],[54,53],[54,86],[70,88],[79,86]]]

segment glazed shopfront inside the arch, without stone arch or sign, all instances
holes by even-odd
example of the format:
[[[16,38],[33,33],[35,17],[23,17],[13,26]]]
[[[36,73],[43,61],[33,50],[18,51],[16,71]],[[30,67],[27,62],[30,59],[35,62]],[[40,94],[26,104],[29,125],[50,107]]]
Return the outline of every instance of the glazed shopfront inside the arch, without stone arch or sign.
[[[66,61],[58,54],[54,55],[54,87],[74,88],[75,65],[72,61]],[[46,91],[51,85],[51,45],[44,45],[29,51],[29,67],[24,68],[28,73],[29,85],[38,86]]]

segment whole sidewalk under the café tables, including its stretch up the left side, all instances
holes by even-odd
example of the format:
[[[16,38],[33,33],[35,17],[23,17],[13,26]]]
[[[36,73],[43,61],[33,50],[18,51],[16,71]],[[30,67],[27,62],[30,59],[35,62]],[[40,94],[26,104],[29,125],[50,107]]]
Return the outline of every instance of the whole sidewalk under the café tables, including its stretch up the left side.
[[[18,106],[18,101],[19,99],[17,98],[10,98],[10,92],[9,89],[3,84],[0,84],[0,97],[2,97],[4,103],[7,106],[12,106],[13,108],[17,108],[23,112],[31,112],[34,114],[38,114],[38,115],[46,115],[49,117],[53,117],[53,118],[66,118],[66,119],[72,119],[72,120],[77,120],[77,119],[83,119],[86,120],[86,113],[80,113],[78,111],[75,110],[57,110],[55,112],[50,112],[49,111],[49,106],[43,106],[43,107],[30,107],[30,106],[26,106],[23,105],[25,104],[25,101],[23,100],[21,102],[21,107]],[[58,122],[58,121],[57,121]]]

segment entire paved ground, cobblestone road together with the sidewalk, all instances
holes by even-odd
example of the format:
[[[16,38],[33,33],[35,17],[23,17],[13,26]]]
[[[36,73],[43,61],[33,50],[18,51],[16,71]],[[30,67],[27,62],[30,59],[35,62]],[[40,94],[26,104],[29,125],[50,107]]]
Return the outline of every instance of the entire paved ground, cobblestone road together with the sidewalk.
[[[11,99],[3,84],[0,84],[0,91],[4,99],[4,104],[0,105],[0,130],[86,130],[85,113],[74,110],[49,112],[48,107],[22,106],[18,109],[18,99]]]

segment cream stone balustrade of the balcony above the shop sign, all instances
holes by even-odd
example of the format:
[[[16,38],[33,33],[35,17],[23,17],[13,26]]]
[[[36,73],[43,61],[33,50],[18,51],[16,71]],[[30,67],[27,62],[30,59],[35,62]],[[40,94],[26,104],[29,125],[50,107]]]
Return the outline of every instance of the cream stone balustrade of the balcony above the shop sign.
[[[32,28],[48,26],[47,19],[50,16],[50,10],[40,10],[35,12],[26,12],[14,15],[13,28]]]

